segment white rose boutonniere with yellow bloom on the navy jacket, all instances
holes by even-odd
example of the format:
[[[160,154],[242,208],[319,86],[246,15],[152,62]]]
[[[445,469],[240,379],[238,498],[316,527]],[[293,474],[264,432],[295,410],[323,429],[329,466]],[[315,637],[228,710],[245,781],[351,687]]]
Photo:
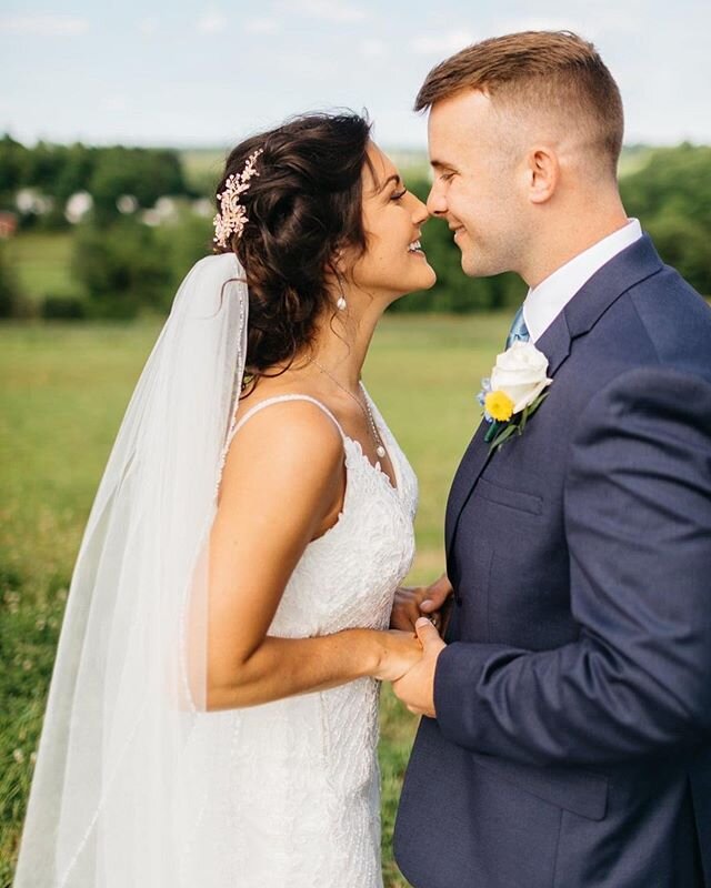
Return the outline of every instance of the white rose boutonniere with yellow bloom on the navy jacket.
[[[532,342],[514,342],[500,355],[491,377],[481,381],[478,401],[490,427],[484,441],[490,451],[511,435],[522,435],[527,421],[548,397],[548,359]]]

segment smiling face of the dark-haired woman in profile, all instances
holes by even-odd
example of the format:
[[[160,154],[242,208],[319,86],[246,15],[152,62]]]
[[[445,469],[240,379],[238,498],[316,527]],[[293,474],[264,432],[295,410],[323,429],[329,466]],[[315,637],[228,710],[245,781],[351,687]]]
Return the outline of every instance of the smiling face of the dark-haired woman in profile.
[[[390,303],[437,280],[419,245],[427,206],[402,184],[392,161],[371,143],[363,168],[363,228],[368,246],[348,279],[371,296]]]

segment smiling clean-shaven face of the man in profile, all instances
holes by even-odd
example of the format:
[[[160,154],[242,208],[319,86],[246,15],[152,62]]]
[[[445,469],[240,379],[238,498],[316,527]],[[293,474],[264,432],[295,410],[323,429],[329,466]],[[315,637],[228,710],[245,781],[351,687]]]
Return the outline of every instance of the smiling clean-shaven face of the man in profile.
[[[434,183],[428,210],[454,232],[465,274],[515,271],[525,233],[525,205],[517,191],[512,133],[489,98],[459,92],[432,107],[430,162]]]

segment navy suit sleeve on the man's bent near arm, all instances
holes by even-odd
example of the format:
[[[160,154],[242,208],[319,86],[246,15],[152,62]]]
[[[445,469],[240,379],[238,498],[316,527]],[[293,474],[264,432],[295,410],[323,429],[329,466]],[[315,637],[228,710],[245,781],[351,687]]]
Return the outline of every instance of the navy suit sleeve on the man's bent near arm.
[[[535,765],[708,741],[711,385],[644,367],[599,392],[571,441],[564,517],[579,638],[535,653],[449,645],[434,677],[442,733]]]

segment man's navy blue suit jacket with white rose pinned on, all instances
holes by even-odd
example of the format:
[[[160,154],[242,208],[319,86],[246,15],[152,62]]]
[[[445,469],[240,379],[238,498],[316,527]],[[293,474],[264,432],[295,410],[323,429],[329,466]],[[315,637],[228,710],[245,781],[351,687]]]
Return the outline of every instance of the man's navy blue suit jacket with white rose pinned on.
[[[711,310],[644,236],[537,346],[548,398],[450,494],[395,858],[417,888],[711,886]]]

